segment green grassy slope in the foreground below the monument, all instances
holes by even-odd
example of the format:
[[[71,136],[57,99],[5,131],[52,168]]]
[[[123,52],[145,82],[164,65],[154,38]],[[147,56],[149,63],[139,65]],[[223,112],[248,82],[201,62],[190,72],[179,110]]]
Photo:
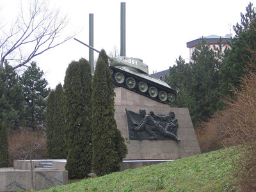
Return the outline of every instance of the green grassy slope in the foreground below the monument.
[[[231,177],[232,160],[228,157],[230,150],[234,148],[83,179],[43,191],[236,191],[236,180]]]

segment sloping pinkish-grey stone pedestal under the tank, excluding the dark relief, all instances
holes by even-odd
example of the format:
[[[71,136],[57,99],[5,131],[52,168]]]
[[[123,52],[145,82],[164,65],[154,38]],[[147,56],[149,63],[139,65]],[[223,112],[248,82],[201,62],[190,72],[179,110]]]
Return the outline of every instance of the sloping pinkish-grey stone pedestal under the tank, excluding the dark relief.
[[[115,88],[115,93],[115,120],[128,148],[124,160],[179,159],[201,153],[188,109],[170,108],[168,104],[162,104],[121,87]],[[147,113],[154,111],[155,114],[164,115],[172,110],[179,123],[177,134],[181,141],[129,140],[125,108],[136,113],[143,108]]]

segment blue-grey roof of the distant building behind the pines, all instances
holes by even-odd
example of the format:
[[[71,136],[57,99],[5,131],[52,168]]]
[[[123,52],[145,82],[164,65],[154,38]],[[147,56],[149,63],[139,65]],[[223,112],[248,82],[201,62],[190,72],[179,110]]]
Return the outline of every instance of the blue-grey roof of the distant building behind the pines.
[[[209,36],[205,36],[205,40],[206,40],[206,44],[218,44],[218,41],[222,40],[223,44],[227,44],[228,42],[231,42],[231,35],[227,34],[225,36],[218,36],[218,35],[209,35]],[[191,42],[187,43],[187,47],[195,47],[198,44],[202,43],[202,39],[198,38],[196,40],[193,40]]]

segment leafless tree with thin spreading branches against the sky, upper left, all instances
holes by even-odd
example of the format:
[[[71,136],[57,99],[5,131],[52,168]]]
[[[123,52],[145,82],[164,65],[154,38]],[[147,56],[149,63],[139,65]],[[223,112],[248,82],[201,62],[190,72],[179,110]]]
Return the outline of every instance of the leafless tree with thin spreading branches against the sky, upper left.
[[[13,69],[26,65],[30,60],[63,44],[74,35],[62,36],[67,27],[67,15],[61,16],[60,10],[49,8],[42,0],[20,1],[20,12],[15,22],[6,29],[0,26],[0,68],[8,60]]]

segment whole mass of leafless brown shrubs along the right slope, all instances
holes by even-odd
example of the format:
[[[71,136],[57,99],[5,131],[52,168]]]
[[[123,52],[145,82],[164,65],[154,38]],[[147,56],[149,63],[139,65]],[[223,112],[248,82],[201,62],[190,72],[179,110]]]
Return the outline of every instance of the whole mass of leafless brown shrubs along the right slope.
[[[255,60],[254,60],[255,61]],[[250,64],[241,88],[234,88],[235,99],[227,99],[227,108],[216,113],[196,130],[202,152],[236,145],[234,177],[241,191],[256,190],[256,65]],[[239,158],[235,154],[241,154]]]

